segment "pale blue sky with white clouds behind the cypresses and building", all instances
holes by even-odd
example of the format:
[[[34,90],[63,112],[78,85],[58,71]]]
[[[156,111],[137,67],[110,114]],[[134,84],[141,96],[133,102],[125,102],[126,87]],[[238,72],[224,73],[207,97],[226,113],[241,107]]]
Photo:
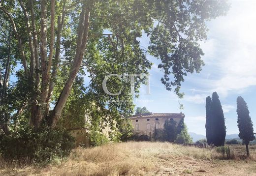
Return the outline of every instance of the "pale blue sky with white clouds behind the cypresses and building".
[[[150,93],[140,89],[140,97],[134,100],[136,107],[146,106],[153,113],[185,114],[189,132],[205,135],[205,99],[217,91],[225,117],[226,133],[239,133],[237,127],[236,98],[242,96],[256,124],[256,1],[229,1],[231,7],[226,16],[207,22],[207,40],[200,42],[205,53],[205,66],[198,74],[185,77],[179,99],[173,91],[161,84],[163,75],[159,60],[147,56],[154,63],[150,70]],[[147,48],[149,38],[139,39]],[[179,102],[184,105],[180,110]]]

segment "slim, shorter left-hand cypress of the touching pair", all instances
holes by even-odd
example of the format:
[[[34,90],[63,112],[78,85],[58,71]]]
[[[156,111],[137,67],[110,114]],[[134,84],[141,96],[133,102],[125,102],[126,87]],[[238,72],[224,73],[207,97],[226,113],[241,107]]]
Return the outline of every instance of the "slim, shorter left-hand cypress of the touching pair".
[[[212,122],[212,98],[208,96],[206,98],[206,122],[205,122],[205,130],[206,130],[206,139],[208,145],[213,143],[213,122]]]

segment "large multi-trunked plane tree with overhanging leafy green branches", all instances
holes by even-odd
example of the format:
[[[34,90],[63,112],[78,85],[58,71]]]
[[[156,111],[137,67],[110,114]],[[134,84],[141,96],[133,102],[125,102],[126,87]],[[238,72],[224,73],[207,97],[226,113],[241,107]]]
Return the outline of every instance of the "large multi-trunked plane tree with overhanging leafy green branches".
[[[204,65],[199,41],[206,39],[205,22],[224,15],[227,6],[222,0],[1,0],[0,21],[10,28],[0,32],[11,33],[1,46],[11,39],[17,46],[12,88],[22,95],[9,104],[16,113],[1,115],[2,128],[7,134],[14,116],[29,118],[35,129],[44,122],[55,128],[74,83],[97,106],[107,107],[106,114],[131,114],[130,80],[108,80],[111,92],[122,89],[118,96],[107,95],[102,80],[109,74],[145,76],[151,67],[147,53],[160,59],[166,89],[182,96],[184,76]],[[142,31],[150,37],[148,50],[138,40]],[[140,83],[144,77],[135,79],[136,93]]]

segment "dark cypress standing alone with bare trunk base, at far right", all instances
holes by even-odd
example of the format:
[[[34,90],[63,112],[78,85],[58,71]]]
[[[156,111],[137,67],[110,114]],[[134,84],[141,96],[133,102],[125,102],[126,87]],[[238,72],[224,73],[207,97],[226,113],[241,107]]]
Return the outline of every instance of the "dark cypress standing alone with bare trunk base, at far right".
[[[236,99],[237,104],[237,123],[238,123],[238,129],[239,129],[239,138],[241,138],[246,145],[246,153],[247,156],[250,155],[248,145],[250,141],[253,141],[255,139],[254,137],[254,128],[253,128],[253,122],[250,117],[250,112],[248,110],[248,106],[245,102],[245,100],[239,96]]]

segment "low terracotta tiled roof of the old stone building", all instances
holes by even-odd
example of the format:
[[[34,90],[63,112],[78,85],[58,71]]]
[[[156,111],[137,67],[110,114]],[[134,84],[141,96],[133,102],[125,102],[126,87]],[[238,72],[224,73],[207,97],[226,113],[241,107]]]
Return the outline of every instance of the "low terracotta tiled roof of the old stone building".
[[[150,117],[171,117],[171,118],[182,118],[185,115],[181,113],[146,113],[146,114],[136,114],[129,118],[150,118]]]

